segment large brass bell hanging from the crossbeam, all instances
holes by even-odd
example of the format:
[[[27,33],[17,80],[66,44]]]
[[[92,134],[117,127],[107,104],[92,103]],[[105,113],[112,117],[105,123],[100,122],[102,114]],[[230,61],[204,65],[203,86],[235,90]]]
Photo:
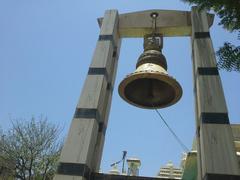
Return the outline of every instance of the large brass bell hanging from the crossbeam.
[[[181,98],[180,84],[167,73],[162,46],[160,34],[144,36],[144,52],[138,59],[136,70],[127,75],[118,88],[120,96],[128,103],[154,109],[173,105]]]

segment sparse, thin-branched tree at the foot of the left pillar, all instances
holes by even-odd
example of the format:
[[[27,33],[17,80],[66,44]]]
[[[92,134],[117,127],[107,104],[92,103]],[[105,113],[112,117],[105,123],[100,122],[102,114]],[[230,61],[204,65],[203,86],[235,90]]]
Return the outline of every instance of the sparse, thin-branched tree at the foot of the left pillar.
[[[42,118],[15,120],[7,133],[0,133],[0,169],[20,180],[53,178],[62,147],[56,125]]]

